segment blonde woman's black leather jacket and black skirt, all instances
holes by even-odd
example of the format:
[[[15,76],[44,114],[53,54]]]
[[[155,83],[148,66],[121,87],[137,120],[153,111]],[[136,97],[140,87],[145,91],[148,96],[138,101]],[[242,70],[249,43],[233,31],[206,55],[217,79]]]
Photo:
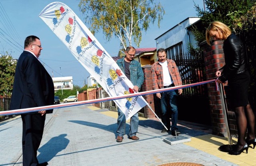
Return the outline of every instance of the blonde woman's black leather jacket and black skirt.
[[[250,74],[245,56],[245,47],[236,34],[230,34],[223,43],[225,56],[225,66],[222,82],[228,80],[230,87],[230,102],[233,108],[246,106],[248,103],[248,88],[250,84]]]

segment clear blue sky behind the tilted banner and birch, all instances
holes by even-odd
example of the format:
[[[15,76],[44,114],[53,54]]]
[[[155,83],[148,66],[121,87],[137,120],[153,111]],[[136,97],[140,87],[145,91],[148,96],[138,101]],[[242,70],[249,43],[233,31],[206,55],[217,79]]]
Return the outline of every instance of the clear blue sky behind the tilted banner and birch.
[[[155,0],[160,2],[164,7],[166,14],[160,23],[160,28],[157,22],[150,25],[147,32],[142,33],[142,42],[140,48],[156,47],[155,38],[183,21],[188,17],[196,17],[194,2],[203,8],[203,0]],[[194,2],[193,2],[194,1]],[[83,86],[89,73],[85,68],[74,58],[71,52],[64,46],[58,37],[50,30],[50,28],[38,17],[45,6],[55,2],[54,0],[1,0],[0,1],[0,30],[5,36],[13,36],[12,43],[20,45],[17,47],[10,46],[3,40],[0,33],[0,54],[4,51],[11,52],[13,58],[18,59],[24,46],[24,40],[27,36],[35,35],[41,40],[43,50],[41,51],[40,60],[44,62],[48,73],[54,77],[60,77],[60,68],[62,76],[73,76],[73,83],[78,86]],[[84,16],[78,8],[79,0],[60,0],[60,2],[69,6],[76,15],[83,20]],[[3,15],[3,10],[10,19],[12,26],[6,26],[6,16]],[[86,25],[90,28],[90,25]],[[11,29],[11,31],[10,31]],[[4,32],[3,32],[4,31]],[[5,34],[7,33],[7,34]],[[112,38],[109,42],[102,33],[95,34],[97,40],[102,44],[105,50],[111,56],[117,56],[119,47],[119,39]],[[12,45],[12,44],[11,44]],[[136,46],[135,46],[136,48]]]

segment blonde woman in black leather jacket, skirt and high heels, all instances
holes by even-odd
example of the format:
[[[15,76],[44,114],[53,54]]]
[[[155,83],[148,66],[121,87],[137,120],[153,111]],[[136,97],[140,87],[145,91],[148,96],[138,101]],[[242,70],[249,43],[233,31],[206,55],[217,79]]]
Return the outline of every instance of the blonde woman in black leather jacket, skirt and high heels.
[[[236,114],[238,142],[229,154],[238,155],[244,150],[248,153],[250,144],[256,146],[254,133],[255,117],[248,102],[250,74],[245,56],[245,47],[240,38],[232,33],[222,22],[214,21],[206,30],[206,42],[224,40],[225,65],[216,72],[216,82],[228,81],[231,90],[231,106]],[[246,128],[248,129],[247,138]]]

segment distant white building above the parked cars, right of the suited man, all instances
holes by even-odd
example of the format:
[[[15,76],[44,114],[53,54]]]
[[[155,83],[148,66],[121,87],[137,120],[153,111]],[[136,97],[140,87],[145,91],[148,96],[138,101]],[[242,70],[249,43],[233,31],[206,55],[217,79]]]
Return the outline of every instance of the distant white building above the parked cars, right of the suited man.
[[[54,91],[64,90],[64,89],[73,89],[73,77],[53,77]]]

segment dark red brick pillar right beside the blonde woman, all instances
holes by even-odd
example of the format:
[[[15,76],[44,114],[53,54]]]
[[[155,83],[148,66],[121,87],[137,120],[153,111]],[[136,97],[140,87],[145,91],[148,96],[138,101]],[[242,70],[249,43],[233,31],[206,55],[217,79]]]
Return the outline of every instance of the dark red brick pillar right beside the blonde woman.
[[[215,73],[225,64],[222,47],[223,41],[215,41],[211,46],[204,48],[204,64],[207,80],[216,79]],[[212,82],[209,83],[207,87],[212,122],[212,134],[225,137],[227,135],[227,131],[220,100],[220,91],[216,90],[215,85],[215,82]]]

